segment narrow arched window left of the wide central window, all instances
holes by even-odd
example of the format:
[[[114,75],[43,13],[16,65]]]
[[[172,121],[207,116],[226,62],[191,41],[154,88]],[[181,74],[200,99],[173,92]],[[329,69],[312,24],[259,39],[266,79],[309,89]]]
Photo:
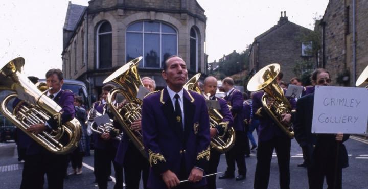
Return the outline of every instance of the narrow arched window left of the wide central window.
[[[97,28],[97,68],[109,68],[112,65],[112,29],[109,22],[102,22]]]

